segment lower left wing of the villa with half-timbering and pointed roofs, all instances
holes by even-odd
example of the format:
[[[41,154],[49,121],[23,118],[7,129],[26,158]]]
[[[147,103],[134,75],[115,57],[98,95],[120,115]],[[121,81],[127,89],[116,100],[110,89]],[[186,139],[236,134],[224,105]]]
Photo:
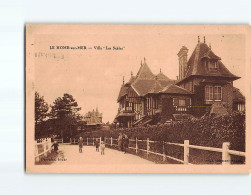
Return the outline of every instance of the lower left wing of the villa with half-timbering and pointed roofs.
[[[188,113],[190,100],[189,105],[182,105],[182,102],[190,98],[191,93],[175,85],[175,82],[161,70],[154,75],[144,60],[137,75],[132,75],[127,83],[123,81],[118,96],[118,114],[114,122],[120,127],[156,124],[175,120],[172,114]],[[167,103],[169,98],[171,104]],[[176,100],[181,102],[181,106],[176,104]]]

